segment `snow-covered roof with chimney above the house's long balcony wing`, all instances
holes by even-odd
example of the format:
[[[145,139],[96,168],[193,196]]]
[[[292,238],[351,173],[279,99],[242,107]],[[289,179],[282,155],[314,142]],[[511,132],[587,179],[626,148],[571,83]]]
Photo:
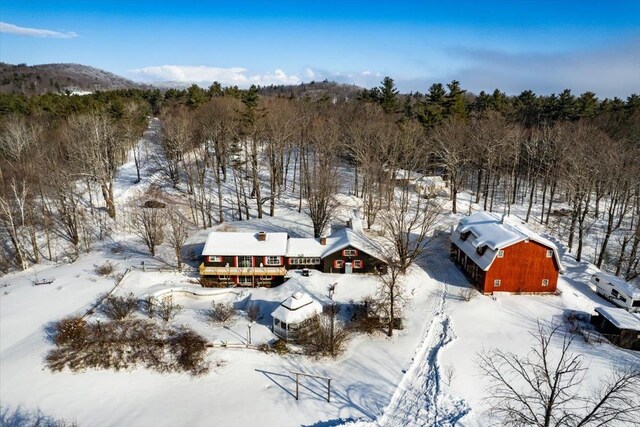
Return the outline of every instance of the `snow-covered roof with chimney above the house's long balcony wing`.
[[[202,255],[220,256],[282,256],[287,252],[287,233],[265,233],[265,240],[258,240],[259,233],[219,232],[209,233]]]

